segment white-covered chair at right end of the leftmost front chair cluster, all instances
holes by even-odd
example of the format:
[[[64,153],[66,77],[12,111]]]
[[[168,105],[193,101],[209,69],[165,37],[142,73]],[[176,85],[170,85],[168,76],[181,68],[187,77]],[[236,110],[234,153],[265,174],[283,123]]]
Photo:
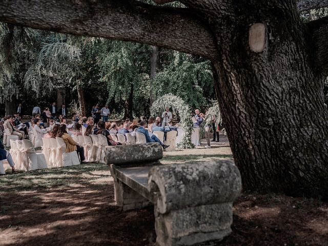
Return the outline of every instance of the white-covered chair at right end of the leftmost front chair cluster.
[[[43,153],[36,153],[30,140],[24,139],[22,140],[22,144],[24,148],[25,167],[28,167],[29,171],[48,168],[45,155]]]

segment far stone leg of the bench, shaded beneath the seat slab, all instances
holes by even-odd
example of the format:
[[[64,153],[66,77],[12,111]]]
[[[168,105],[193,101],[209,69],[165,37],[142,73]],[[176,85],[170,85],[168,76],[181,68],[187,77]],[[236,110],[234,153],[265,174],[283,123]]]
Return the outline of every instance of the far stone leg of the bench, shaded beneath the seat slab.
[[[119,179],[114,179],[114,189],[116,205],[124,211],[142,209],[151,204],[147,198],[139,195]]]

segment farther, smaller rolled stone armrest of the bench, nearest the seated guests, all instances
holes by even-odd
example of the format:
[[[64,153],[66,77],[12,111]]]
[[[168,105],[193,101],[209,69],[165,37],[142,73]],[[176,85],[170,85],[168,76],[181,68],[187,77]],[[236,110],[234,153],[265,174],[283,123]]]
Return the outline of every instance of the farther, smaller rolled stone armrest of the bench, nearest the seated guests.
[[[106,147],[106,157],[108,165],[129,166],[157,161],[163,157],[163,149],[157,142],[144,145],[119,145],[114,148]]]

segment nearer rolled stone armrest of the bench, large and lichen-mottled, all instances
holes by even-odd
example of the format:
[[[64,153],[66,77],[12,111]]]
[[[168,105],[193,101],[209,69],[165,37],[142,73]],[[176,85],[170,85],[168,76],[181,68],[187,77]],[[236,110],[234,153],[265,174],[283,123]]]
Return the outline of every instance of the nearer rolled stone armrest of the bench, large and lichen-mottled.
[[[148,190],[155,192],[158,212],[234,201],[241,190],[238,168],[231,160],[153,167]]]

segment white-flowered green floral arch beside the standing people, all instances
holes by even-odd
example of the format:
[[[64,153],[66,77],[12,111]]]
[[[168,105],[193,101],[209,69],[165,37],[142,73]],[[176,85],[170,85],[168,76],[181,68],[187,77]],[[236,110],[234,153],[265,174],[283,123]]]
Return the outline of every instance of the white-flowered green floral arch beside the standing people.
[[[170,93],[163,95],[155,100],[150,109],[150,112],[153,116],[156,116],[157,114],[161,115],[161,112],[163,112],[166,107],[172,108],[172,111],[178,113],[180,116],[180,124],[183,130],[183,136],[181,137],[181,141],[178,144],[178,148],[195,148],[191,142],[193,122],[190,116],[190,107],[180,97]]]

